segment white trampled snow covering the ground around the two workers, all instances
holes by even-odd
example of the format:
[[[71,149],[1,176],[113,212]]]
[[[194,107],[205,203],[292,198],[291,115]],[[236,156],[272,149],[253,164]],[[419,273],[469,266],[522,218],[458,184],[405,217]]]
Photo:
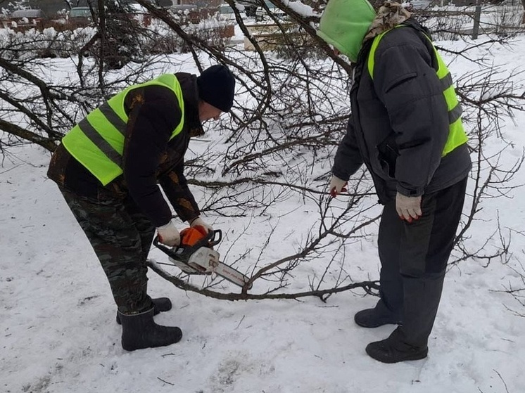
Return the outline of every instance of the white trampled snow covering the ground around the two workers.
[[[460,44],[439,45],[454,49]],[[524,37],[512,46],[495,44],[490,52],[476,50],[507,70],[523,70]],[[453,61],[455,75],[472,67],[461,58],[445,57]],[[513,142],[504,155],[509,162],[525,148],[524,128],[525,113],[517,112],[503,129]],[[205,138],[220,135],[212,131]],[[498,140],[488,141],[489,150],[499,148]],[[424,360],[386,365],[365,354],[365,345],[387,337],[393,326],[364,329],[353,323],[355,312],[377,301],[359,290],[326,303],[313,297],[226,302],[177,290],[153,271],[149,294],[169,296],[174,304],[156,321],[179,326],[184,337],[169,347],[125,352],[106,277],[56,185],[46,179],[48,162],[49,153],[24,147],[11,150],[0,167],[2,392],[525,392],[525,309],[505,293],[525,286],[525,237],[519,233],[525,223],[524,188],[514,188],[510,200],[486,201],[484,226],[499,215],[502,227],[514,231],[514,255],[506,264],[467,259],[450,268]],[[525,169],[514,181],[521,183]],[[192,189],[198,200],[204,198]],[[296,203],[270,207],[270,218],[246,233],[246,244],[262,247],[257,238],[265,239],[272,219],[280,217],[288,220],[288,232],[280,233],[282,241],[268,252],[296,250],[312,221],[311,206]],[[230,234],[244,230],[240,220],[205,218]],[[483,239],[483,226],[476,228],[472,238]],[[226,253],[229,238],[223,242],[217,250]],[[377,279],[374,240],[352,247],[347,257],[353,259],[355,281]],[[159,252],[152,254],[162,259]],[[315,271],[315,264],[304,269]],[[294,289],[301,284],[308,289],[306,278]]]

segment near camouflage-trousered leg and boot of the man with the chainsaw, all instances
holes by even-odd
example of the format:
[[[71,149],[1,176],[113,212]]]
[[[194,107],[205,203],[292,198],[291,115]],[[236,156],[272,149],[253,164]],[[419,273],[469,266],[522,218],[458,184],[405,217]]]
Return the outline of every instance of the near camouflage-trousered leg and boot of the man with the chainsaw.
[[[125,205],[118,200],[91,200],[63,189],[61,192],[110,283],[122,322],[122,348],[133,351],[179,342],[179,328],[159,326],[153,321],[155,309],[146,290],[145,248]],[[151,231],[145,229],[142,236],[148,233]]]

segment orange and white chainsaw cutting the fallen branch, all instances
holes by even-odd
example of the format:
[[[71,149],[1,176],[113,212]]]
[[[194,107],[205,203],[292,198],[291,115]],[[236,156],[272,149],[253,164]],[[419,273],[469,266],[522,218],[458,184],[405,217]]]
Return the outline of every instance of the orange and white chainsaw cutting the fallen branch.
[[[227,281],[243,287],[249,278],[240,271],[220,262],[220,254],[213,250],[213,246],[222,240],[222,231],[206,231],[203,226],[185,228],[180,232],[180,245],[167,247],[160,243],[158,236],[153,240],[153,245],[164,252],[172,264],[184,271],[186,274],[212,273],[221,276]],[[248,289],[251,289],[251,283]]]

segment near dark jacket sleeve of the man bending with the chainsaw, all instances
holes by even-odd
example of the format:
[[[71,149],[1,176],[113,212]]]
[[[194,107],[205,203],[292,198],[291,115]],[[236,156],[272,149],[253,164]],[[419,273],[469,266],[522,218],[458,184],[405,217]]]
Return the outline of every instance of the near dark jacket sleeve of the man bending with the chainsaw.
[[[151,86],[132,91],[122,167],[129,194],[155,226],[170,221],[172,212],[157,186],[157,168],[165,154],[181,110],[175,94]]]

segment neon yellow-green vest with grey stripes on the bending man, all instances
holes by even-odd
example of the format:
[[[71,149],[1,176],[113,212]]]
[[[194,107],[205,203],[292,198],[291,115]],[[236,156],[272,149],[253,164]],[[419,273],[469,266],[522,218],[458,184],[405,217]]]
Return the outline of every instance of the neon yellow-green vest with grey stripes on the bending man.
[[[122,151],[128,119],[124,109],[125,98],[129,91],[151,85],[165,86],[177,96],[182,116],[180,123],[172,131],[171,140],[184,126],[184,99],[179,81],[173,74],[160,75],[149,82],[127,87],[89,112],[62,138],[69,153],[99,179],[103,186],[122,174]]]

